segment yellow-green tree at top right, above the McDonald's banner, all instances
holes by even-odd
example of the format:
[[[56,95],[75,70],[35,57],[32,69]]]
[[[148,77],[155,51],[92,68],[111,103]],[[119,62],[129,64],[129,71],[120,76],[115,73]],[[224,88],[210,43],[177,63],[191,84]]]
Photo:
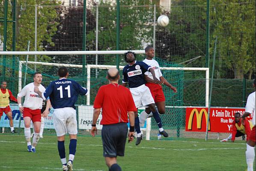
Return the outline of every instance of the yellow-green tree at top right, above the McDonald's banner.
[[[223,61],[220,69],[231,70],[233,78],[243,79],[247,73],[251,78],[255,73],[255,1],[229,0],[229,4],[211,8],[211,16],[213,37],[218,37],[217,50]],[[225,72],[223,75],[228,77]]]

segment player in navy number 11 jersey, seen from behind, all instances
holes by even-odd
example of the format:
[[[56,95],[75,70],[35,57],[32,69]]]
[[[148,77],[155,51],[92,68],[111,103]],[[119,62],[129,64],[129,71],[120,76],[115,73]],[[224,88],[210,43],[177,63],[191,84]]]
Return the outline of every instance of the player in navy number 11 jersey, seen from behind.
[[[44,93],[40,92],[38,88],[35,88],[34,91],[44,100],[50,97],[51,105],[54,108],[54,128],[58,137],[58,150],[63,171],[71,171],[77,147],[77,119],[74,104],[79,94],[87,95],[88,91],[74,80],[67,79],[68,69],[66,67],[60,67],[58,75],[60,79],[51,82]],[[65,158],[64,146],[66,133],[70,138],[68,163]]]

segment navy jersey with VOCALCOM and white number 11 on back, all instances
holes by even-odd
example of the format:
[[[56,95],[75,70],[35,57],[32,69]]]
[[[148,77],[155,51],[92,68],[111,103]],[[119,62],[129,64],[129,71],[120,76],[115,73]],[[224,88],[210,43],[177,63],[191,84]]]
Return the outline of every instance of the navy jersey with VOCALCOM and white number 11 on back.
[[[43,99],[50,97],[51,105],[54,109],[73,107],[78,95],[87,95],[88,91],[74,80],[61,78],[53,81],[42,94]]]

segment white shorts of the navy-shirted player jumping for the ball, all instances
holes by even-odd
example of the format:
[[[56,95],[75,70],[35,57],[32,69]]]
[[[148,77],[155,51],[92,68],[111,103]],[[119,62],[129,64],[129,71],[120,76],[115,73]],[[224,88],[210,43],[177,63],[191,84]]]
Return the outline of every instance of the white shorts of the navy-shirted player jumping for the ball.
[[[135,106],[137,108],[155,103],[149,88],[143,84],[137,88],[130,88]]]

